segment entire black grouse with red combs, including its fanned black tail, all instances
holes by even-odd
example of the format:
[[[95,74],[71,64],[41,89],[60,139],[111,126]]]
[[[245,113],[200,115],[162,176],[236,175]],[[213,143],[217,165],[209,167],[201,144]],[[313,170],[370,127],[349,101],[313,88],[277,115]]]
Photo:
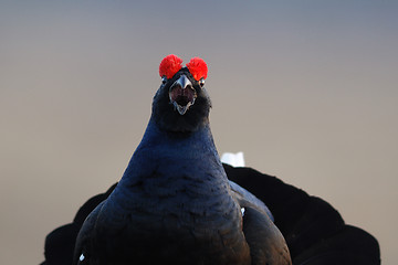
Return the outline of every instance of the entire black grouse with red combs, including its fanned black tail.
[[[73,259],[74,264],[380,264],[377,240],[346,224],[323,199],[255,169],[220,163],[208,120],[207,65],[198,57],[186,67],[181,62],[176,55],[161,61],[161,85],[149,124],[122,180],[91,198],[73,222],[46,236],[42,265]],[[197,150],[202,156],[195,159]],[[200,172],[206,177],[198,178]],[[209,182],[217,184],[208,190]],[[217,212],[227,216],[212,220]],[[214,226],[228,239],[222,246],[213,237]],[[138,242],[132,243],[133,234]],[[205,242],[192,243],[198,236]],[[248,250],[234,248],[240,250],[235,254],[240,261],[228,259],[228,247],[222,248],[232,242]]]

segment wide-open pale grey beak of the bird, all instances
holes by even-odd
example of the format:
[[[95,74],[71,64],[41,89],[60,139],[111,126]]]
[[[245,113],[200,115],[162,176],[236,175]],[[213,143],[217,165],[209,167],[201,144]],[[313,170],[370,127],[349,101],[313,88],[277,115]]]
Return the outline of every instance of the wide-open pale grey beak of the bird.
[[[169,89],[170,103],[175,106],[175,109],[184,115],[189,107],[193,105],[197,98],[197,92],[192,86],[192,83],[186,75],[181,75]]]

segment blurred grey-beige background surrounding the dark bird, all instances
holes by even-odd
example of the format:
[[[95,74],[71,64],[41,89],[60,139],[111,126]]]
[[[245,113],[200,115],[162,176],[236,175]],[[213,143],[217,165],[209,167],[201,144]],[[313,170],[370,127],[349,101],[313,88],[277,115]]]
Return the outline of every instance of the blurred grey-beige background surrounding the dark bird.
[[[398,264],[398,1],[0,0],[0,264],[119,180],[158,65],[202,57],[219,152],[331,202]]]

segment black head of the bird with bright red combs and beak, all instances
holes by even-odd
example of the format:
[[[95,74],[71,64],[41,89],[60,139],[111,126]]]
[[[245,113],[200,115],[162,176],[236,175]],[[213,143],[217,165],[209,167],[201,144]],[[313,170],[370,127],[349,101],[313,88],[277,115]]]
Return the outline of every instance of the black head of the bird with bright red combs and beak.
[[[211,103],[205,89],[207,72],[199,57],[186,66],[174,54],[160,62],[161,85],[154,97],[153,117],[161,129],[189,132],[208,121]]]

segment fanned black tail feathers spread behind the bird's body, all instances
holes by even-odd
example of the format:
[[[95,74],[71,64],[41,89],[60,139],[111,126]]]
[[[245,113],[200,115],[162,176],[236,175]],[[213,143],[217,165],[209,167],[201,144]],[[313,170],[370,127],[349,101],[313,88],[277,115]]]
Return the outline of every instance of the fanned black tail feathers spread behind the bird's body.
[[[293,264],[380,264],[377,240],[359,227],[345,224],[338,212],[324,200],[251,168],[223,167],[230,180],[266,202],[286,240]],[[115,186],[85,202],[73,223],[48,235],[43,265],[71,264],[76,231],[82,225],[75,221],[84,220],[95,203],[105,200]],[[76,227],[69,229],[71,226]]]

